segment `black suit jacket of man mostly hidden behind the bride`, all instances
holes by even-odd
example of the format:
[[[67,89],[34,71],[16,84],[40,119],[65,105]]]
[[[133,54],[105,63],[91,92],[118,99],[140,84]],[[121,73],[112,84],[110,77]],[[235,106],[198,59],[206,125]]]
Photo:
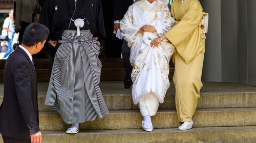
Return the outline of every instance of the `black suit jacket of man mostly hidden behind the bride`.
[[[128,10],[129,6],[133,4],[133,0],[116,0],[115,11],[114,11],[114,21],[122,20],[124,14]]]

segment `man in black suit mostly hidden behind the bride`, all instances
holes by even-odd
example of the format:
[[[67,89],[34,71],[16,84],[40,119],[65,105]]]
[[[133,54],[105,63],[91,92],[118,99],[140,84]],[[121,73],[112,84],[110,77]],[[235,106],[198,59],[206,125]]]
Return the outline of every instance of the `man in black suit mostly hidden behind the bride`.
[[[120,20],[123,18],[124,14],[128,10],[129,6],[133,4],[133,0],[117,0],[115,2],[114,10],[114,30],[118,30],[120,27]],[[122,45],[122,56],[123,56],[123,66],[125,69],[125,79],[124,88],[129,89],[132,86],[131,74],[133,67],[130,63],[130,48],[127,46],[127,42],[123,40]]]

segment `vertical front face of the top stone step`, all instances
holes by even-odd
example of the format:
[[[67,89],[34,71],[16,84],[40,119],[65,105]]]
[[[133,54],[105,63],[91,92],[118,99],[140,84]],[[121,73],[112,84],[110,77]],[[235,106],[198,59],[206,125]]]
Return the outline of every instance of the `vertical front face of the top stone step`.
[[[109,110],[138,110],[133,104],[131,94],[103,95]],[[256,107],[256,93],[202,93],[198,108],[240,108]],[[39,111],[53,111],[52,106],[45,105],[46,96],[38,96]],[[3,96],[0,96],[0,102]],[[175,109],[175,95],[167,94],[159,109]]]

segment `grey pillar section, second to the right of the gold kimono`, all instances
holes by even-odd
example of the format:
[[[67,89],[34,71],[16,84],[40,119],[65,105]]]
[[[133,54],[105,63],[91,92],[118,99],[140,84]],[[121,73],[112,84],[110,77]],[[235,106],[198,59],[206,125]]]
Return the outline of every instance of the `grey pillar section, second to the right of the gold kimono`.
[[[238,82],[238,1],[221,1],[222,82]]]

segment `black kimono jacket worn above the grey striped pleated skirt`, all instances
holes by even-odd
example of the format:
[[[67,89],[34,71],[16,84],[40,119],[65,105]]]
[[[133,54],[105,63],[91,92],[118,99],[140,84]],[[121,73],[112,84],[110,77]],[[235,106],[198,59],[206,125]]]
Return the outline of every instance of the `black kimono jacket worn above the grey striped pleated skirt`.
[[[73,14],[72,9],[73,10],[75,9],[75,4],[70,5],[69,4],[70,2],[75,3],[74,0],[66,0],[66,1],[48,1],[48,0],[40,1],[39,0],[39,3],[45,3],[40,14],[39,23],[46,25],[50,30],[50,36],[48,38],[48,41],[50,41],[51,44],[47,42],[45,46],[46,52],[49,53],[50,73],[52,71],[55,53],[59,47],[59,44],[56,41],[61,38],[63,31],[65,29],[68,29],[67,25],[69,25],[69,23],[71,22],[69,18],[71,18]],[[97,15],[100,12],[101,7],[100,8],[96,7],[98,5],[98,1],[95,1],[94,3],[95,4],[93,4],[93,1],[90,0],[86,3],[83,2],[82,5],[78,5],[79,7],[81,6],[81,8],[76,8],[76,9],[79,9],[78,12],[80,14],[84,12],[88,14],[87,20],[84,19],[84,23],[85,24],[89,23],[89,27],[88,25],[85,25],[82,28],[80,28],[80,30],[87,30],[90,28],[91,33],[93,34],[94,37],[103,38],[105,37],[104,25],[102,25],[102,23],[104,23],[103,17],[102,15],[100,15],[100,17],[98,17]],[[62,11],[60,11],[61,9],[66,13],[62,13]],[[97,18],[99,19],[99,21],[95,21],[95,19]],[[76,30],[76,27],[74,26],[74,22],[71,24],[70,29]],[[55,45],[53,41],[56,42]]]

